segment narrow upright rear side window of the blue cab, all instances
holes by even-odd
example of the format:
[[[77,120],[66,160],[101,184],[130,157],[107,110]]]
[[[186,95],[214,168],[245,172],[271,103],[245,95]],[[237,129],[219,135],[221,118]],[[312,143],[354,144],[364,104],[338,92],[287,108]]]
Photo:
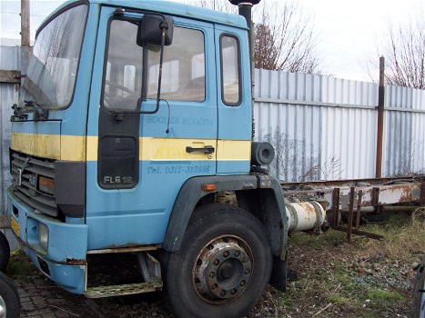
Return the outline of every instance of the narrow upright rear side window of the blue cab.
[[[232,35],[220,37],[221,91],[223,103],[240,104],[239,43]]]

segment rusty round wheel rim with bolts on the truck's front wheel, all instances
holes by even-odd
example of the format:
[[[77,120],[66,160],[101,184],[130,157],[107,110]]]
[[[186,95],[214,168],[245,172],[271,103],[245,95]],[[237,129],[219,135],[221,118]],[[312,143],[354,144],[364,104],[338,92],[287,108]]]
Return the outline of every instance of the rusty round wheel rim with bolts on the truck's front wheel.
[[[228,303],[247,289],[254,260],[248,244],[235,235],[222,235],[198,253],[192,283],[207,303]]]

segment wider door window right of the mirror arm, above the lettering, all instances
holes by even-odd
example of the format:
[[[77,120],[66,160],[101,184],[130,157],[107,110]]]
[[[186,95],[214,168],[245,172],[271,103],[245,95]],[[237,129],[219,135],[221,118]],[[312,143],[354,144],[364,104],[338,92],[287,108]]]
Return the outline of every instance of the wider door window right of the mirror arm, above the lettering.
[[[157,98],[159,47],[148,46],[147,97]],[[199,30],[176,26],[173,44],[164,50],[161,97],[168,100],[205,100],[205,45]]]

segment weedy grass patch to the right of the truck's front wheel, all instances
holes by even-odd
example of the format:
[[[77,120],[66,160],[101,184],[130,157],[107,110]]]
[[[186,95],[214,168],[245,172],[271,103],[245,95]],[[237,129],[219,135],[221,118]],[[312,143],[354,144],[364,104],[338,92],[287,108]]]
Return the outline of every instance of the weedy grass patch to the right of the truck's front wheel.
[[[298,233],[289,238],[289,257],[298,257],[303,265],[294,261],[299,280],[289,284],[287,293],[278,294],[279,316],[319,313],[316,317],[329,317],[339,312],[346,317],[372,318],[409,313],[408,282],[414,273],[405,271],[425,253],[425,208],[410,214],[391,214],[387,221],[363,224],[360,230],[380,234],[384,239],[353,235],[347,243],[345,233],[332,229],[319,236]],[[369,273],[359,273],[361,262]],[[381,269],[375,271],[375,264]],[[327,305],[326,311],[319,312]],[[294,313],[295,308],[305,314]]]

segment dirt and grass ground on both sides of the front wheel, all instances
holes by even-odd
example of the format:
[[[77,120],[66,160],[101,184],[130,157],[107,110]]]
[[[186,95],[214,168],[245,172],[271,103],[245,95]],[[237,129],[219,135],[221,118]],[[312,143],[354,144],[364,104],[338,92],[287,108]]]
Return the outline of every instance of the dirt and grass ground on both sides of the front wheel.
[[[319,237],[296,234],[289,241],[287,293],[268,287],[248,318],[410,317],[412,263],[424,251],[425,235],[423,224],[414,230],[406,224],[373,225],[386,236],[383,242],[347,243],[345,234],[333,230]],[[173,317],[159,293],[99,300],[66,293],[21,253],[13,255],[6,273],[21,296],[22,317]]]

